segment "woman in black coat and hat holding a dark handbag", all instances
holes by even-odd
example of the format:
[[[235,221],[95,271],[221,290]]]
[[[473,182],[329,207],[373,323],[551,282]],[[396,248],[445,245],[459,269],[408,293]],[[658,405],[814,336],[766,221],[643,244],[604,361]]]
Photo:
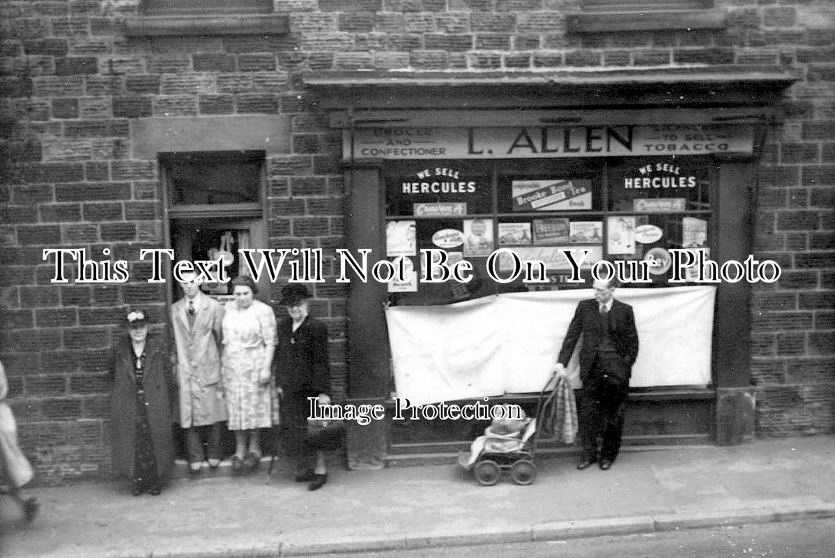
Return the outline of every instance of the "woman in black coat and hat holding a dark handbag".
[[[288,317],[278,323],[276,384],[283,393],[284,419],[290,436],[291,457],[296,460],[296,482],[308,482],[307,490],[319,490],[327,480],[325,456],[306,444],[307,398],[331,403],[327,329],[308,314],[311,293],[291,283],[281,290],[281,305]]]

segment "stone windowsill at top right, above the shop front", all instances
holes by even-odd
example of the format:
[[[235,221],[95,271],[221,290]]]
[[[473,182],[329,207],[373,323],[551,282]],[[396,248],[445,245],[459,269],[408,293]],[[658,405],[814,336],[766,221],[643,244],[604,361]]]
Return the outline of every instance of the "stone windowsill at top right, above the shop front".
[[[569,13],[566,24],[569,33],[723,29],[726,13],[721,9]]]

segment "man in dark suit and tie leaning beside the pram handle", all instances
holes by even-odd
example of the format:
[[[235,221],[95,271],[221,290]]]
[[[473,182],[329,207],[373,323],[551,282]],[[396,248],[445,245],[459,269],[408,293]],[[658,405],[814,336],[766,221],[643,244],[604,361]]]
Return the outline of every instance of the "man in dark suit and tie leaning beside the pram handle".
[[[584,456],[577,469],[599,462],[600,469],[608,470],[620,450],[629,378],[638,356],[638,332],[632,307],[613,297],[615,283],[595,281],[593,287],[595,298],[577,305],[556,368],[565,373],[582,333],[579,378],[583,388],[576,393]]]

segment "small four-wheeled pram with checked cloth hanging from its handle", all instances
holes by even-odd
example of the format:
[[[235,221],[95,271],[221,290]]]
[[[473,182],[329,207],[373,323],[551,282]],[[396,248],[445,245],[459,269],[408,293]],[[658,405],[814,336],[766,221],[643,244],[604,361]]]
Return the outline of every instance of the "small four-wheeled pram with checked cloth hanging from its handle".
[[[473,449],[458,454],[458,464],[464,469],[472,471],[475,479],[484,486],[492,486],[498,482],[502,473],[509,472],[510,478],[516,484],[531,484],[536,479],[536,446],[540,433],[548,430],[549,426],[555,432],[549,434],[562,435],[564,441],[573,443],[574,434],[567,435],[559,432],[559,426],[566,426],[565,432],[574,433],[576,419],[569,424],[560,415],[564,413],[564,406],[569,405],[569,417],[575,417],[572,390],[568,386],[567,378],[560,377],[554,382],[556,371],[551,374],[544,388],[539,392],[536,403],[536,416],[528,418],[528,424],[519,434],[507,436],[495,434],[490,427],[484,430],[484,436],[473,442]],[[554,388],[551,385],[554,384]],[[560,393],[569,393],[570,403]],[[547,394],[547,397],[546,397]],[[480,448],[478,447],[480,444]]]

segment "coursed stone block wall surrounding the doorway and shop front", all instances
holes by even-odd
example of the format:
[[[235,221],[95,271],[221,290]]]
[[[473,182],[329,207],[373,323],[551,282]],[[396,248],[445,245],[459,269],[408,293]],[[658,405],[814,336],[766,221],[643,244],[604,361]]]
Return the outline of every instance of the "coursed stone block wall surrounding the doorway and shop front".
[[[794,83],[775,103],[780,118],[763,127],[751,207],[753,253],[777,261],[782,276],[751,292],[748,393],[758,436],[835,431],[828,0],[716,0],[692,10],[691,28],[675,14],[659,18],[667,28],[618,28],[616,18],[595,28],[595,3],[580,0],[274,0],[231,11],[218,3],[210,18],[168,4],[0,4],[0,359],[42,482],[108,474],[112,338],[127,308],[149,312],[164,331],[173,294],[147,282],[139,250],[171,246],[172,231],[197,217],[166,199],[176,162],[159,154],[260,153],[253,203],[263,226],[250,232],[266,245],[254,246],[347,246],[343,133],[327,110],[338,95],[321,104],[307,79],[317,73],[787,71]],[[251,212],[240,217],[259,216]],[[129,282],[54,284],[43,250],[59,247],[128,261]],[[333,281],[330,261],[324,271],[313,312],[329,328],[334,392],[344,399],[350,287]],[[279,287],[267,298],[275,302]]]

